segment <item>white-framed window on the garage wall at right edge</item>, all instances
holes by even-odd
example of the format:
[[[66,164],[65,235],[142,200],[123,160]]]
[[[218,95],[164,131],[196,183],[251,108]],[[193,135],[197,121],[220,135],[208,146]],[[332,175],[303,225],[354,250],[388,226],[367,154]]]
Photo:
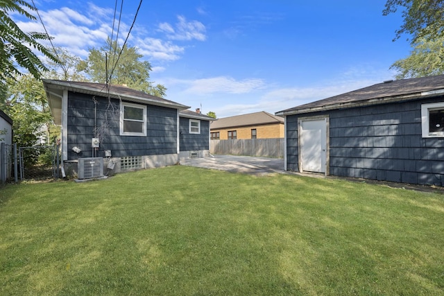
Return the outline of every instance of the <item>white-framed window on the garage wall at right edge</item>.
[[[422,137],[444,137],[444,102],[421,105]]]

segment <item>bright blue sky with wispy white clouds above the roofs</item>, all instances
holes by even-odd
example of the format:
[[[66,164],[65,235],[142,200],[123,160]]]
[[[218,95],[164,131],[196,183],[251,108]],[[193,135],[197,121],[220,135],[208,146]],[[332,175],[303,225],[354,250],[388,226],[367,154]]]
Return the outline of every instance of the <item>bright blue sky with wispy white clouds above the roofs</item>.
[[[112,33],[115,1],[35,0],[56,46],[86,58]],[[393,78],[411,50],[393,42],[385,0],[143,1],[128,44],[151,62],[167,98],[220,117],[274,114]],[[139,1],[124,1],[123,43]],[[117,18],[121,1],[117,1]],[[43,31],[24,21],[25,31]],[[117,24],[116,24],[117,26]],[[114,37],[115,37],[114,28]]]

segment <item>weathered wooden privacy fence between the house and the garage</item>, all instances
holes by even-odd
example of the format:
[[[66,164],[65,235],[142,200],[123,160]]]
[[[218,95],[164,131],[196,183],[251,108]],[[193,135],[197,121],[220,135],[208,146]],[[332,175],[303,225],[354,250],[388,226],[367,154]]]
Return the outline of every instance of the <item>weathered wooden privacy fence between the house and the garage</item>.
[[[284,139],[211,140],[210,153],[284,157]]]

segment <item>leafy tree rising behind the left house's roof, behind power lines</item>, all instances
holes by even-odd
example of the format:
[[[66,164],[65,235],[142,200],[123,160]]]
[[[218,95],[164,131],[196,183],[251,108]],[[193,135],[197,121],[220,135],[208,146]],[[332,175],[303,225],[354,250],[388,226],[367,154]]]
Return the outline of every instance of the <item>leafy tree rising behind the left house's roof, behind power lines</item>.
[[[142,57],[137,48],[124,46],[122,49],[116,41],[108,39],[100,49],[90,49],[87,60],[80,62],[77,69],[85,71],[92,82],[124,84],[147,94],[166,96],[164,85],[153,85],[148,80],[151,64],[140,60]]]

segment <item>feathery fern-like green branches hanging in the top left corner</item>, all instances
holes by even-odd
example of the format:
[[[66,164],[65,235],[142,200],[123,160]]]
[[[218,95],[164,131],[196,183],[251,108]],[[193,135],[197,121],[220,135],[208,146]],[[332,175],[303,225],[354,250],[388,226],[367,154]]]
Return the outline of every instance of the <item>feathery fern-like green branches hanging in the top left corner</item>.
[[[23,0],[0,1],[0,82],[3,84],[21,76],[22,69],[29,71],[34,78],[40,78],[41,72],[46,71],[47,68],[32,49],[40,51],[53,62],[58,61],[56,56],[39,43],[49,40],[48,35],[24,33],[10,18],[10,14],[19,14],[35,20],[28,10],[35,11],[35,8]]]

